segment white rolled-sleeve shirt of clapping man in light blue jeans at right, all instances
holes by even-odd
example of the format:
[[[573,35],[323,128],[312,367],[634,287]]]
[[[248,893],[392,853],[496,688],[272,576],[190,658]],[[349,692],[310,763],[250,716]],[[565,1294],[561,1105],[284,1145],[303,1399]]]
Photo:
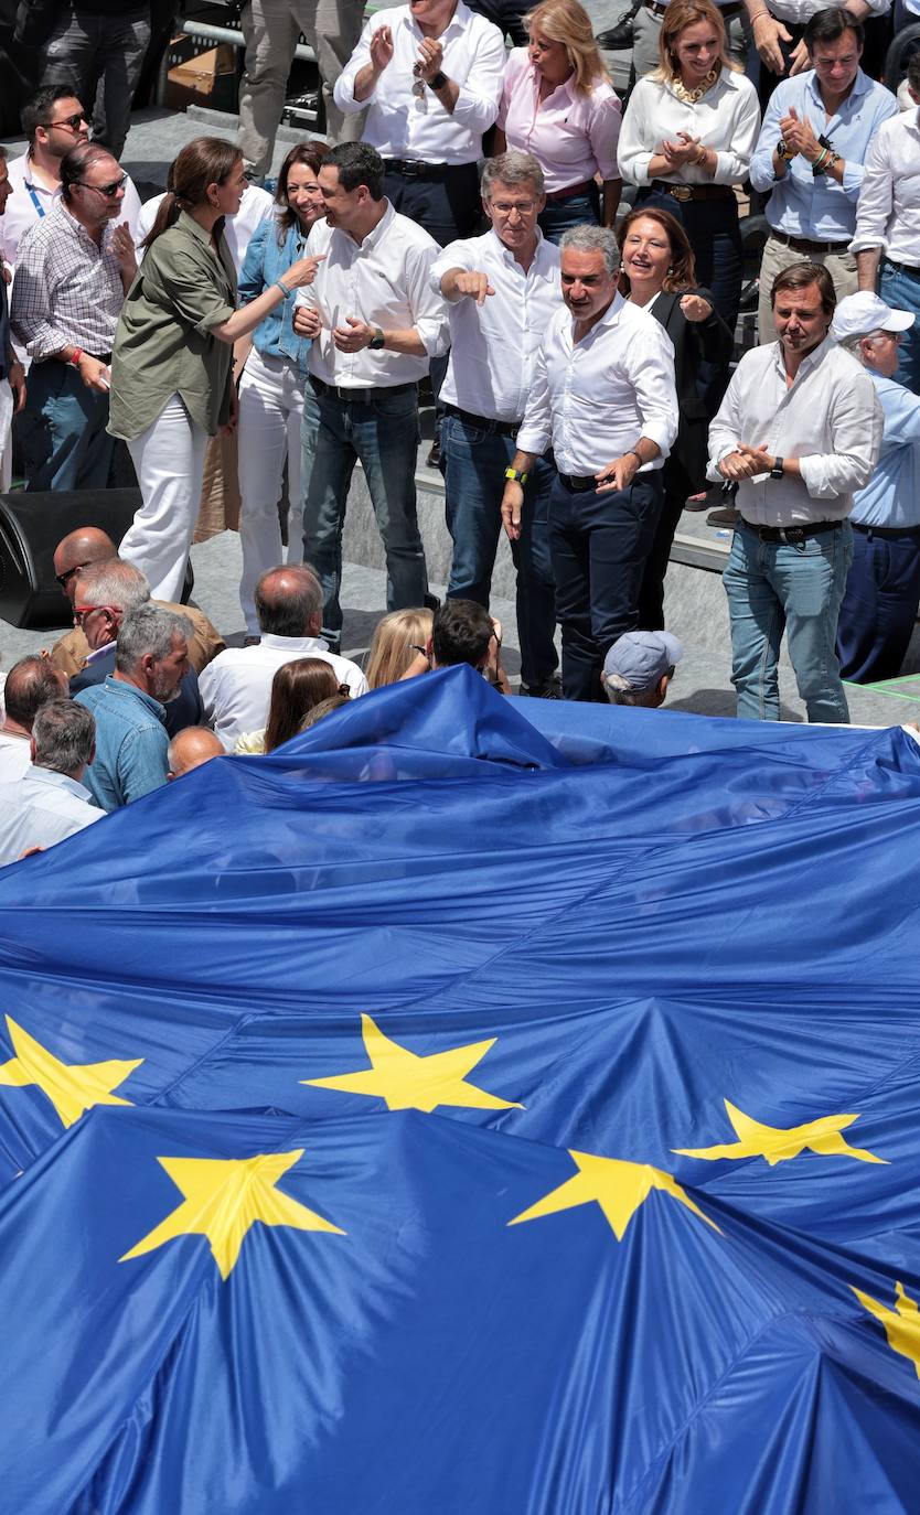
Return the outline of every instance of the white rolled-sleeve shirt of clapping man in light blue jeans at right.
[[[850,514],[853,491],[871,476],[882,444],[882,408],[862,364],[834,338],[809,353],[791,385],[782,347],[753,347],[738,364],[709,427],[708,477],[738,442],[771,458],[797,458],[800,477],[743,479],[738,509],[753,526],[808,526]]]

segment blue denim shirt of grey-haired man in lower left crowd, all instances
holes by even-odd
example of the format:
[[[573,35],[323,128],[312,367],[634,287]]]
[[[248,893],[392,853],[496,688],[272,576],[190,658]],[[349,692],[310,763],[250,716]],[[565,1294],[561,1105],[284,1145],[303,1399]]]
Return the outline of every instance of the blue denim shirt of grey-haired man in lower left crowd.
[[[85,782],[103,811],[130,804],[167,782],[170,738],[159,700],[112,674],[74,700],[95,717],[95,758]]]

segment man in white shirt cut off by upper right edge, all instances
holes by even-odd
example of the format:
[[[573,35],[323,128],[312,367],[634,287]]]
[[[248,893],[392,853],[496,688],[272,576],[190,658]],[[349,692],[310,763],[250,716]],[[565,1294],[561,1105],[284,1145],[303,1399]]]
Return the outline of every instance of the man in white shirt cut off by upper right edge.
[[[920,315],[920,53],[911,53],[908,89],[914,108],[884,121],[865,155],[856,206],[859,288],[879,294],[893,311]],[[879,277],[881,267],[881,277]],[[920,323],[900,344],[896,379],[920,394]]]

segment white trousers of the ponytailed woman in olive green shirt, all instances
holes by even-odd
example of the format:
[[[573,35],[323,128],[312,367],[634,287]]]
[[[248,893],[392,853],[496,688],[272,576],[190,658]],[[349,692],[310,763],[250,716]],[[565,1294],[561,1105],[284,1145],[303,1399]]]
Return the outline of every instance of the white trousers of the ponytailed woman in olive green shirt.
[[[167,400],[156,421],[127,444],[144,503],[118,551],[141,570],[153,600],[176,604],[182,598],[206,445],[208,432],[196,426],[177,394]]]

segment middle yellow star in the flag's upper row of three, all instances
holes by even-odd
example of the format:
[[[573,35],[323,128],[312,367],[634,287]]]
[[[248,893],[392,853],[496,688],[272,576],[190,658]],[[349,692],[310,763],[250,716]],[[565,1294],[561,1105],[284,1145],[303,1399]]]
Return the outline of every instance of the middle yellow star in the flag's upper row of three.
[[[390,1110],[424,1110],[430,1115],[438,1104],[459,1104],[470,1110],[523,1110],[523,1104],[500,1100],[467,1074],[485,1057],[497,1038],[468,1042],[450,1051],[435,1051],[420,1057],[385,1036],[370,1015],[361,1017],[364,1050],[370,1068],[364,1073],[341,1073],[333,1079],[302,1079],[317,1089],[341,1089],[343,1094],[367,1094],[386,1101]]]

